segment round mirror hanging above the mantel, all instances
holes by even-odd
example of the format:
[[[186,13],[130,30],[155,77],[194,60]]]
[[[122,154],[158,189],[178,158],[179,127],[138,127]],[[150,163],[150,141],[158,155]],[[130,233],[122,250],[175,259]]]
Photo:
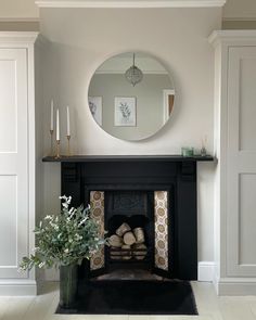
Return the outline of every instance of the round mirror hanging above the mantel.
[[[99,126],[123,140],[156,133],[174,110],[175,88],[154,57],[129,52],[106,60],[94,73],[88,103]]]

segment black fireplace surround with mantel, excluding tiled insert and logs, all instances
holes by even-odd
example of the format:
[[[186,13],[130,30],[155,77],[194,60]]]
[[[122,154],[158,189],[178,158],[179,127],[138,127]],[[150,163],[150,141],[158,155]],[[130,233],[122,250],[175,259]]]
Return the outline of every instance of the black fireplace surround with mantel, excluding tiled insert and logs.
[[[210,156],[71,156],[62,166],[62,194],[72,195],[72,205],[87,205],[91,191],[168,191],[169,278],[197,279],[196,163]],[[43,162],[56,162],[46,157]],[[110,202],[110,196],[105,202]],[[107,203],[106,203],[107,207]],[[118,223],[117,223],[118,225]],[[107,225],[105,225],[107,226]],[[153,240],[152,240],[153,241]],[[106,261],[104,272],[110,269]],[[88,274],[88,264],[81,274]],[[156,270],[157,271],[157,270]],[[156,272],[157,273],[157,272]],[[165,274],[163,274],[165,276]]]

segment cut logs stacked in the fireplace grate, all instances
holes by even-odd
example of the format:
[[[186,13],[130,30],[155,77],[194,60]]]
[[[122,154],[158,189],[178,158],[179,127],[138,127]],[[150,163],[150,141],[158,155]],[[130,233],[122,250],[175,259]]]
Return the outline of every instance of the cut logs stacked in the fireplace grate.
[[[116,229],[115,234],[110,236],[108,243],[112,259],[143,260],[146,255],[144,230],[142,228],[131,230],[126,222]]]

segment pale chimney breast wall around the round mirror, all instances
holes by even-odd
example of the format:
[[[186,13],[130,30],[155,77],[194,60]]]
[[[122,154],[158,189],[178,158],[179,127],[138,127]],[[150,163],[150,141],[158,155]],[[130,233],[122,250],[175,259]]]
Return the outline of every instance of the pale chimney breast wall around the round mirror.
[[[65,105],[71,106],[75,154],[179,154],[182,145],[200,149],[205,135],[213,153],[214,52],[207,37],[220,27],[220,9],[47,9],[41,10],[41,20],[42,33],[54,41],[46,56],[46,154],[51,97],[61,108],[63,146]],[[87,94],[90,77],[106,57],[133,50],[149,52],[167,66],[177,95],[174,116],[166,127],[148,140],[132,143],[112,138],[97,126]],[[214,172],[215,164],[199,164],[199,259],[206,261],[214,260]],[[47,214],[59,204],[60,166],[46,164],[44,174]]]

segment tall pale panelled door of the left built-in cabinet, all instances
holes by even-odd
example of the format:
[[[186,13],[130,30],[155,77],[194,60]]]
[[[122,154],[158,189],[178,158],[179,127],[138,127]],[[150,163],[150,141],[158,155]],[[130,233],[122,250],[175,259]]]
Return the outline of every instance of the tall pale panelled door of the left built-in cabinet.
[[[27,50],[0,49],[0,279],[27,278],[28,254]]]

